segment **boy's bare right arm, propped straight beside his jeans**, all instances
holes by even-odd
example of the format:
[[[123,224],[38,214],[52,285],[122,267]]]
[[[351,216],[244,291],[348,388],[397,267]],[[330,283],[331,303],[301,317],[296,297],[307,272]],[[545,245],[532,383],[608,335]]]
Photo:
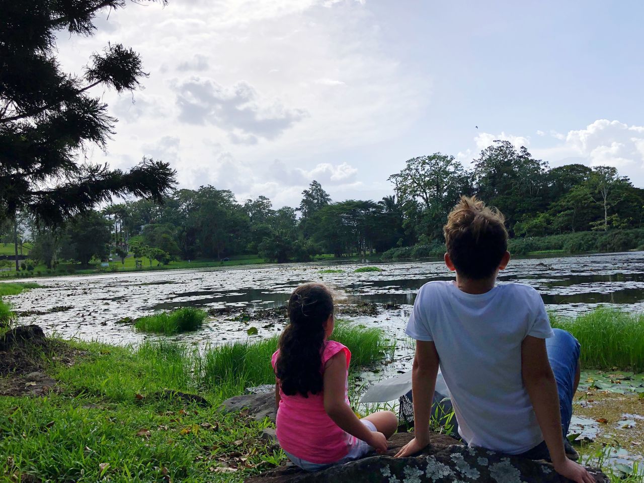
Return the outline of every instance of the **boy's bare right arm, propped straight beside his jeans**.
[[[557,383],[548,361],[545,339],[526,336],[521,344],[521,374],[554,469],[577,483],[594,482],[583,466],[565,456]]]

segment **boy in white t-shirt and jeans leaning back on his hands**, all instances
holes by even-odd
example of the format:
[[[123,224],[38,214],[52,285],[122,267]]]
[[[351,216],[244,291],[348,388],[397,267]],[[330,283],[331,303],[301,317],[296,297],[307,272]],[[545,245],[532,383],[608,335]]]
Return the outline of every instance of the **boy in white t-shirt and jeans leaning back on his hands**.
[[[535,289],[495,286],[510,260],[503,215],[462,196],[444,234],[445,263],[456,279],[426,283],[413,305],[406,334],[417,341],[415,438],[397,456],[417,453],[430,441],[440,366],[467,444],[549,459],[560,475],[593,483],[564,450],[579,383],[579,343],[569,332],[551,329]]]

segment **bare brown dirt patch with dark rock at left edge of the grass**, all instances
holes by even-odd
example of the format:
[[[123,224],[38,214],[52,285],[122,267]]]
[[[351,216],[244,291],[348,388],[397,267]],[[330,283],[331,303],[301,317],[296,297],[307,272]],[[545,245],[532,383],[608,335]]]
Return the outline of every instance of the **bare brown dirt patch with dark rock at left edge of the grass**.
[[[46,374],[52,363],[71,366],[84,354],[62,341],[44,337],[35,325],[17,327],[0,339],[0,395],[45,395],[56,386]]]

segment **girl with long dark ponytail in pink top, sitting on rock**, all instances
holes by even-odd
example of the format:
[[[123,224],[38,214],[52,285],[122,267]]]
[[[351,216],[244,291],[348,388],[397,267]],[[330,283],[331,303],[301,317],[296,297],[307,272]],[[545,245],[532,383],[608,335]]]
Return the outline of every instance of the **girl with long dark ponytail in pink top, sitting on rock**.
[[[305,283],[289,299],[290,323],[272,356],[277,437],[289,459],[307,471],[387,450],[397,418],[381,411],[359,419],[347,394],[351,352],[328,337],[333,296],[321,283]]]

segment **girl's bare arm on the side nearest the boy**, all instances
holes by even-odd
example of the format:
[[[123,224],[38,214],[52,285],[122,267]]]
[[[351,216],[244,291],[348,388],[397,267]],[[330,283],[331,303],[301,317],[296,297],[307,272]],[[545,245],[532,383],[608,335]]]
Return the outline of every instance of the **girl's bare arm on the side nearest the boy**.
[[[383,433],[372,432],[360,422],[345,401],[346,356],[343,352],[331,357],[324,371],[324,408],[341,429],[373,446],[379,453],[387,450]]]

